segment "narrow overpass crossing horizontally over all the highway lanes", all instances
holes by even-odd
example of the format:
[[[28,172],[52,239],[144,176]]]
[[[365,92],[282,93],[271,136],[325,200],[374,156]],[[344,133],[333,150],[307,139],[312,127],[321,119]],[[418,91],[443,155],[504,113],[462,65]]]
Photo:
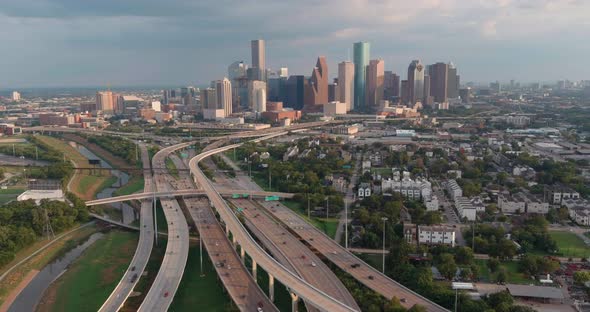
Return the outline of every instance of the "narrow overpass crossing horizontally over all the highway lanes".
[[[102,199],[95,199],[89,200],[86,202],[86,206],[96,206],[96,205],[103,205],[103,204],[112,204],[118,203],[122,201],[128,200],[139,200],[139,199],[148,199],[148,198],[170,198],[176,196],[202,196],[206,195],[207,193],[203,190],[197,189],[186,189],[186,190],[172,190],[172,191],[160,191],[160,192],[143,192],[143,193],[135,193],[131,195],[121,195],[115,196],[110,198],[102,198]],[[240,194],[245,195],[248,194],[250,197],[266,197],[266,196],[278,196],[280,198],[293,198],[295,194],[293,193],[282,193],[282,192],[266,192],[266,191],[247,191],[247,190],[220,190],[219,194],[224,197],[231,196],[233,194]]]

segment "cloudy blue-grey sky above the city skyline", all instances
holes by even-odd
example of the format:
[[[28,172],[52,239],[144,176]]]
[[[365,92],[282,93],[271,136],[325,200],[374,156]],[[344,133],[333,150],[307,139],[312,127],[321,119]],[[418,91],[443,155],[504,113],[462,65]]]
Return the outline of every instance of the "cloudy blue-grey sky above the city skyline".
[[[330,77],[371,43],[407,75],[452,61],[462,82],[590,79],[588,0],[0,0],[0,88],[203,85],[251,63]],[[350,55],[350,57],[349,57]]]

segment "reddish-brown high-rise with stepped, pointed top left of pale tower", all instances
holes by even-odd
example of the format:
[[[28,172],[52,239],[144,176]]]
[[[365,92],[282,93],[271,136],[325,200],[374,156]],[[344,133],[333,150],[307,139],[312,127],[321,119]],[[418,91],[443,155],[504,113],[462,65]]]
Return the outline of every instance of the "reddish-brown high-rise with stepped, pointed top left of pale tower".
[[[328,103],[328,63],[325,56],[320,56],[306,85],[305,110],[318,112],[326,103]]]

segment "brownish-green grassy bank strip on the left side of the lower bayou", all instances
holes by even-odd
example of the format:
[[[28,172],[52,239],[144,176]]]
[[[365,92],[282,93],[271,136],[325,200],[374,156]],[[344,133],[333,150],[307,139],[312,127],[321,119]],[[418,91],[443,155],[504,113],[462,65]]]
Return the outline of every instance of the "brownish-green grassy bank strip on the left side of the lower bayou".
[[[27,273],[29,273],[31,270],[41,270],[48,263],[52,262],[56,257],[59,257],[59,255],[66,252],[69,248],[71,248],[71,246],[78,245],[80,242],[85,241],[90,235],[92,235],[92,233],[95,232],[95,226],[87,226],[69,235],[66,235],[50,247],[46,248],[33,258],[29,259],[27,262],[14,269],[2,280],[2,282],[0,282],[0,304],[2,304],[10,291],[23,280]],[[48,242],[48,240],[40,240],[28,248],[21,250],[16,254],[16,257],[12,262],[0,270],[0,273],[4,273],[8,268],[14,266],[16,263],[37,251]]]

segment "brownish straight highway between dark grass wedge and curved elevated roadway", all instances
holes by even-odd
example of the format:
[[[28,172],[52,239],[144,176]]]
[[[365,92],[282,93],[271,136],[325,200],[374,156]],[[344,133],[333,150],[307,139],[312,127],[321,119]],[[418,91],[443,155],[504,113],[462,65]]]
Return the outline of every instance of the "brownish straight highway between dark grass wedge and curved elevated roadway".
[[[170,157],[176,168],[186,167],[178,157]],[[183,186],[192,185],[190,175],[186,171],[179,174]],[[206,198],[184,199],[191,219],[193,220],[199,237],[201,238],[211,262],[214,264],[217,276],[223,283],[228,294],[240,311],[278,311],[272,301],[260,289],[242,259],[229,241],[223,228],[217,221],[215,213]]]

